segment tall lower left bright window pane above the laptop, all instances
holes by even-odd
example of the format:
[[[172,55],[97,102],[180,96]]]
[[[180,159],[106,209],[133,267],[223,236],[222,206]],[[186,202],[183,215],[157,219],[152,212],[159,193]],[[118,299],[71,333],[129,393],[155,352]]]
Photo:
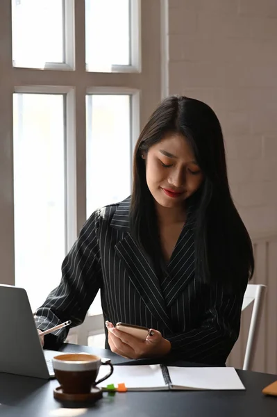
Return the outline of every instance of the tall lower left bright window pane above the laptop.
[[[15,284],[33,311],[65,256],[64,97],[14,95]]]

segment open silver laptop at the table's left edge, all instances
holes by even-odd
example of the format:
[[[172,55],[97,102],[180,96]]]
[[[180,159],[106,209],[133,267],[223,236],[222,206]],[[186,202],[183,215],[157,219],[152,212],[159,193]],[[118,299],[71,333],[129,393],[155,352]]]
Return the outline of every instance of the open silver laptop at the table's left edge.
[[[54,377],[53,350],[43,350],[23,288],[0,284],[0,372]]]

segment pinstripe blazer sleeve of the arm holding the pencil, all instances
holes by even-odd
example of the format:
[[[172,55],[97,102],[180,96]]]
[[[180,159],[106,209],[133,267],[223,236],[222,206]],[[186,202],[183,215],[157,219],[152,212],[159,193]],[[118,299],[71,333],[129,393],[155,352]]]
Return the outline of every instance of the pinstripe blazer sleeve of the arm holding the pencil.
[[[99,212],[92,213],[85,222],[78,239],[62,262],[60,284],[48,295],[35,312],[37,329],[42,331],[72,320],[71,327],[81,325],[87,310],[101,287],[101,259],[99,254]],[[60,345],[69,327],[44,338],[44,347]]]

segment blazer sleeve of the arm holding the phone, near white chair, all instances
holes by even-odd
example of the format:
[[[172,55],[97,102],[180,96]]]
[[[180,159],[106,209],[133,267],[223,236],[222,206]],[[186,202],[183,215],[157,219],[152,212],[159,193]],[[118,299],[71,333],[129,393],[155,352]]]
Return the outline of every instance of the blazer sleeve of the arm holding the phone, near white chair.
[[[240,334],[242,302],[247,281],[241,288],[210,289],[201,325],[188,332],[165,336],[171,342],[171,353],[182,359],[210,364],[224,364]]]

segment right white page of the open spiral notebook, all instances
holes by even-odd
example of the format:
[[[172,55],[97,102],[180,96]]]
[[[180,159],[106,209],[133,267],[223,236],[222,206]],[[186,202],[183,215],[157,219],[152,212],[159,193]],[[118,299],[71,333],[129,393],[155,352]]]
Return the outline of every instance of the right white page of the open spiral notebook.
[[[169,366],[173,386],[187,389],[245,389],[234,368],[178,368]]]

